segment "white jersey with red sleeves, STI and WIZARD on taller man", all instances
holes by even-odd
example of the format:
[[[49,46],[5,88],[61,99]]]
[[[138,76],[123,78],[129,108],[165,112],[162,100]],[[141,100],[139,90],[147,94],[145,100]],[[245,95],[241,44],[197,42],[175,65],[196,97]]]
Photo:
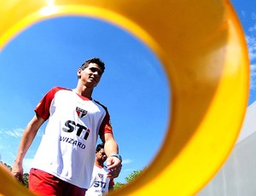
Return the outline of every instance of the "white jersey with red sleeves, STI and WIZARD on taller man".
[[[112,133],[106,107],[71,89],[51,89],[35,108],[48,124],[32,168],[88,188],[98,135]]]

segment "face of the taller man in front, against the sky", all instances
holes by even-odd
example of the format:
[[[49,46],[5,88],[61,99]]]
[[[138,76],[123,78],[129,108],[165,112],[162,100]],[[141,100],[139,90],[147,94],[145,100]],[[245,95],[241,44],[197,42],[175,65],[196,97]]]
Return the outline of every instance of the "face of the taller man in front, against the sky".
[[[102,69],[96,63],[90,63],[84,70],[79,68],[78,76],[82,79],[84,84],[95,87],[102,78]]]

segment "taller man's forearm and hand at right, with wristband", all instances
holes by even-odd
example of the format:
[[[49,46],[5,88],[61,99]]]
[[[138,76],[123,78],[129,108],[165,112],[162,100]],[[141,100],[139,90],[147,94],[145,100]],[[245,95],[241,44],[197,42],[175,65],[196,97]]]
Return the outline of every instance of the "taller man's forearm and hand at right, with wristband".
[[[110,172],[108,173],[108,177],[118,177],[122,168],[121,160],[115,156],[112,156],[113,154],[119,153],[118,144],[113,139],[113,134],[111,133],[104,134],[102,141],[104,142],[104,151],[108,156],[108,159],[106,161],[108,170],[110,170]]]

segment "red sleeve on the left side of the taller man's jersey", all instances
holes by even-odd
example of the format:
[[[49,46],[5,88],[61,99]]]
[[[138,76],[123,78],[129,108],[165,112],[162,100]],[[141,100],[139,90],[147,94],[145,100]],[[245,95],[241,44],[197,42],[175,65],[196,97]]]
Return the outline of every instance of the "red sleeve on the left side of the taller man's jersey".
[[[54,87],[53,89],[50,89],[49,92],[45,94],[43,99],[38,103],[38,106],[35,107],[34,111],[44,120],[49,118],[49,107],[51,101],[54,99],[55,93],[60,89],[64,88]]]

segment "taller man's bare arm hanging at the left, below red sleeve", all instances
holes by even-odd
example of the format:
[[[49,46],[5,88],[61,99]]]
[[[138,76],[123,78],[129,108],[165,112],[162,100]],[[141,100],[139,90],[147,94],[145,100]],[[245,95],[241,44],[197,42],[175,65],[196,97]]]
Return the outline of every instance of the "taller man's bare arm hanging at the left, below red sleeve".
[[[37,135],[38,129],[42,124],[44,124],[44,119],[39,117],[38,114],[36,114],[32,118],[32,120],[26,125],[26,129],[24,130],[23,135],[21,137],[20,147],[15,159],[15,164],[12,169],[13,176],[15,176],[15,178],[17,178],[20,181],[22,181],[23,177],[23,159],[26,155],[28,148],[31,146],[32,141]]]

